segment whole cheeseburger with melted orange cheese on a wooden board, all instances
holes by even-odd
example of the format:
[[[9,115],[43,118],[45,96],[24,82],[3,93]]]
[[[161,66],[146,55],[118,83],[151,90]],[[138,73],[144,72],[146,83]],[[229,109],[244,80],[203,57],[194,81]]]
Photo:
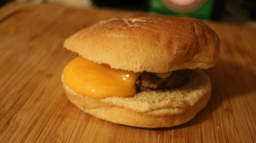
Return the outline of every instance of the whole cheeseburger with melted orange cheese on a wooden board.
[[[96,118],[158,128],[185,123],[210,99],[202,69],[217,62],[220,40],[192,18],[113,18],[69,37],[78,53],[64,68],[69,100]]]

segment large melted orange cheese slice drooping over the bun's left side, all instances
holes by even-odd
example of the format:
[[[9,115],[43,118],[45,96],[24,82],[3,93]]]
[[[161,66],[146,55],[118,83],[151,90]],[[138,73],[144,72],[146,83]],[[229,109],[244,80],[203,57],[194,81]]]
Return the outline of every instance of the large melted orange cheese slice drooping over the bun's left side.
[[[136,93],[139,74],[77,57],[64,68],[63,80],[75,92],[91,98],[130,97]]]

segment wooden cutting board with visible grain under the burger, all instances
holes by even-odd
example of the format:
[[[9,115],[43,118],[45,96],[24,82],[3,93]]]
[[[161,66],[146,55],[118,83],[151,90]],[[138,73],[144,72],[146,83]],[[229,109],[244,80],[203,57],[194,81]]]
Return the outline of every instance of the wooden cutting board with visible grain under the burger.
[[[31,3],[0,8],[0,142],[256,142],[256,29],[206,22],[221,39],[220,60],[206,70],[207,106],[177,127],[113,124],[79,110],[60,76],[77,54],[63,41],[102,19],[143,13]]]

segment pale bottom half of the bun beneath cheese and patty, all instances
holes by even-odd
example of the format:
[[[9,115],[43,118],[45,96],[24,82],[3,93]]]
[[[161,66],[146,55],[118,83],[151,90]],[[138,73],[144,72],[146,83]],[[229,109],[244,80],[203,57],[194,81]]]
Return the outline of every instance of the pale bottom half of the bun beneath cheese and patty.
[[[133,97],[93,99],[76,93],[62,78],[69,100],[96,118],[144,128],[172,127],[193,119],[210,99],[211,83],[203,70],[190,70],[188,82],[170,90],[142,91]]]

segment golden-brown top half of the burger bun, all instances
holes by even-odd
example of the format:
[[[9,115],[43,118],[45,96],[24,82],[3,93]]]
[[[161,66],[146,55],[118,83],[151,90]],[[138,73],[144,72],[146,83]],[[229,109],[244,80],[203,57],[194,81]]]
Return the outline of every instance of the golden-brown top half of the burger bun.
[[[64,47],[115,69],[167,72],[214,66],[220,40],[199,20],[158,15],[100,21],[69,37]]]

